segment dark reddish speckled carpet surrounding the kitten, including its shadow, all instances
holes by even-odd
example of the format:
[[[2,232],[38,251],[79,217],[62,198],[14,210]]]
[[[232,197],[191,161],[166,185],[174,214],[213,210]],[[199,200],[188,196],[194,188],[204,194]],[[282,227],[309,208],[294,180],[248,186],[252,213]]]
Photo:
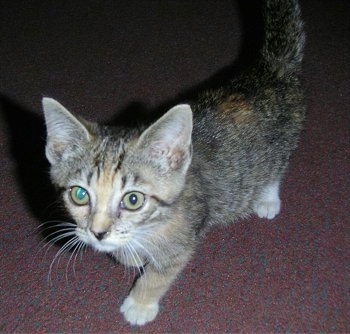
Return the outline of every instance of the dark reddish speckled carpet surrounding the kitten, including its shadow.
[[[308,115],[281,214],[209,233],[156,321],[137,328],[119,313],[133,271],[91,250],[50,268],[59,246],[43,247],[37,228],[58,211],[41,98],[93,121],[158,112],[254,58],[259,7],[1,1],[1,333],[350,332],[350,2],[301,0],[301,8]]]

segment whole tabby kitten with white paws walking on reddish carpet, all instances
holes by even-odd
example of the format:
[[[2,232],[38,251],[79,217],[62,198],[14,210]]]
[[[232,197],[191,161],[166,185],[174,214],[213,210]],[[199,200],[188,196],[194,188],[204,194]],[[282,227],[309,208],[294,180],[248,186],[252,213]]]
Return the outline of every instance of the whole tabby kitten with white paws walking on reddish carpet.
[[[208,228],[280,211],[305,111],[297,1],[267,0],[265,25],[261,59],[248,73],[148,127],[90,123],[43,99],[51,179],[76,243],[142,268],[120,308],[131,324],[157,316]]]

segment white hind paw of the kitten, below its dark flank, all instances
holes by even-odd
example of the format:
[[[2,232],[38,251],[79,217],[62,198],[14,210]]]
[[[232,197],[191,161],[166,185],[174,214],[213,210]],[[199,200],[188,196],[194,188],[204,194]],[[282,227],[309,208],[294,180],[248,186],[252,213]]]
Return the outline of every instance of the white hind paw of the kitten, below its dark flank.
[[[263,189],[253,206],[253,210],[260,218],[275,218],[281,210],[279,181],[270,183]]]

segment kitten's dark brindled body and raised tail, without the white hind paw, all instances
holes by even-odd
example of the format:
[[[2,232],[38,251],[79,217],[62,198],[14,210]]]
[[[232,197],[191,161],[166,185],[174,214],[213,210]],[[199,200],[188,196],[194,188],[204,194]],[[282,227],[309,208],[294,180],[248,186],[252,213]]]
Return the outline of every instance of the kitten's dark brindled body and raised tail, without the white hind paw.
[[[299,72],[305,36],[298,3],[267,0],[264,20],[258,63],[193,105],[192,171],[201,170],[198,191],[206,193],[210,223],[256,211],[271,185],[278,193],[302,128]]]

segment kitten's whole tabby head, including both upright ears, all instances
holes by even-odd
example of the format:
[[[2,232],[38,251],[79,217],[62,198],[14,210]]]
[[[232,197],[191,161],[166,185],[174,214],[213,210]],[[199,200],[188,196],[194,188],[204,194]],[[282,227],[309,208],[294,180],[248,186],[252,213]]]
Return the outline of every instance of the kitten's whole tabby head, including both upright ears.
[[[100,251],[142,253],[186,181],[190,107],[175,106],[143,131],[89,123],[50,98],[43,109],[51,179],[62,190],[76,235]]]

